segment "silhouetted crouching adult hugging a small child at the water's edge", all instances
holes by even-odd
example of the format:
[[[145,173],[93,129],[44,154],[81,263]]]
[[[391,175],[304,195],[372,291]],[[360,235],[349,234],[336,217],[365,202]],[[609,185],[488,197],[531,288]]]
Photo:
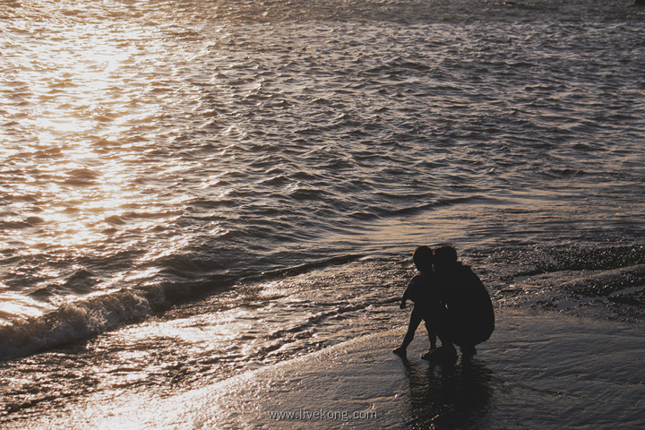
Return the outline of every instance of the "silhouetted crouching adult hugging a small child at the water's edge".
[[[475,346],[488,340],[495,330],[495,312],[486,287],[469,266],[457,261],[452,246],[434,250],[434,274],[447,309],[440,330],[442,348],[434,357],[454,355],[452,344],[464,355],[475,354]],[[429,354],[425,358],[432,357]]]

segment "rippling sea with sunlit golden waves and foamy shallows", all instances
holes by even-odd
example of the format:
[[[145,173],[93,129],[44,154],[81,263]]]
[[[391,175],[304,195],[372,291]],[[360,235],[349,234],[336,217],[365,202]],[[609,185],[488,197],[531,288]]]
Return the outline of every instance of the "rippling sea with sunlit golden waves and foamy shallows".
[[[628,0],[0,4],[0,422],[495,305],[645,317]]]

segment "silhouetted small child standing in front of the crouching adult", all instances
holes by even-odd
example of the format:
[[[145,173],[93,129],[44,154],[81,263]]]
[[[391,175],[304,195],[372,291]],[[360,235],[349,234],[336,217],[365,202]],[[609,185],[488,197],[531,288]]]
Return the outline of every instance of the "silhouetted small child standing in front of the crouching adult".
[[[410,314],[408,332],[403,338],[403,343],[392,352],[400,357],[406,357],[407,349],[414,339],[417,327],[423,321],[426,324],[430,348],[436,348],[437,323],[443,315],[443,305],[434,287],[433,251],[428,246],[419,246],[412,254],[412,261],[417,266],[419,274],[410,280],[408,288],[403,293],[400,308],[405,309],[408,299],[414,302],[414,309]]]

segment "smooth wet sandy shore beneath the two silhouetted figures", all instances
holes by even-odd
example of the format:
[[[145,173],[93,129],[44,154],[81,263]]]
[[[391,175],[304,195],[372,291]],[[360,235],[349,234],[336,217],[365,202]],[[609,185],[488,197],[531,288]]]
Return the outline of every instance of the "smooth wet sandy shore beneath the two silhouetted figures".
[[[102,393],[6,428],[643,428],[641,327],[504,310],[469,362],[391,353],[403,327],[160,399]]]

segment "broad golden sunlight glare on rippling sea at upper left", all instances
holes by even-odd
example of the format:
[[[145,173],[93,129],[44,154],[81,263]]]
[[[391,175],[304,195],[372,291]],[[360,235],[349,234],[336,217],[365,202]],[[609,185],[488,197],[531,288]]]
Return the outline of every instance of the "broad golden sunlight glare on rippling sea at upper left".
[[[179,253],[188,243],[182,235],[172,245],[154,240],[173,228],[190,199],[159,195],[173,185],[168,176],[187,168],[179,157],[159,155],[176,135],[168,130],[176,125],[159,121],[176,105],[174,89],[154,88],[174,67],[163,30],[92,15],[119,4],[82,5],[79,16],[62,16],[58,3],[39,3],[35,12],[36,5],[23,6],[25,16],[0,22],[0,52],[8,54],[0,64],[0,243],[22,259],[10,277],[22,295],[0,285],[0,321],[56,305],[55,297],[40,302],[24,294],[53,285],[56,296],[85,269],[78,258],[99,259],[100,269],[127,254],[124,272],[113,269],[92,288],[100,294],[153,276],[159,268],[133,263]],[[30,20],[41,7],[51,8],[51,19]],[[91,263],[87,269],[96,275]]]

